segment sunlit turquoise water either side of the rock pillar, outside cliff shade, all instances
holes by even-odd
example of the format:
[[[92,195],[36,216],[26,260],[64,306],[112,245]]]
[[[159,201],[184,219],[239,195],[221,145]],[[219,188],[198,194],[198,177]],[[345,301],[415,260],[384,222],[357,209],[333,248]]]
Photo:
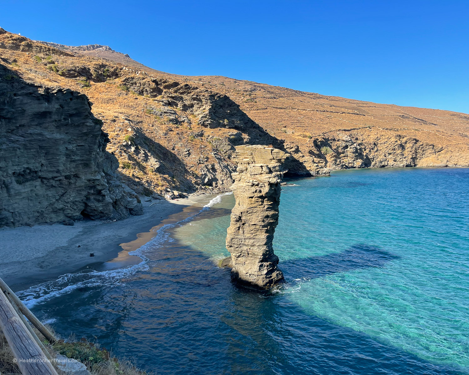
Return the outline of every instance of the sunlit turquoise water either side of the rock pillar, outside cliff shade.
[[[468,170],[350,170],[295,182],[282,190],[274,248],[296,282],[280,293],[425,360],[469,367]],[[211,221],[179,232],[221,258],[229,218]],[[207,246],[207,237],[219,240]]]

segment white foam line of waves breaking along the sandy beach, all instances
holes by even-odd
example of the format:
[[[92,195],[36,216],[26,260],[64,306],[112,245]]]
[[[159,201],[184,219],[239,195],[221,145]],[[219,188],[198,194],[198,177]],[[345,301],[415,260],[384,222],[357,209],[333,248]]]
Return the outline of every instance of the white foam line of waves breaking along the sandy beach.
[[[148,251],[155,248],[161,248],[165,242],[173,242],[174,240],[169,237],[168,229],[175,226],[181,226],[192,220],[200,213],[209,210],[215,204],[221,202],[221,197],[224,195],[233,194],[231,192],[217,195],[209,203],[207,203],[202,210],[185,218],[177,223],[166,224],[157,230],[155,237],[153,237],[146,244],[140,248],[129,252],[129,255],[136,255],[142,259],[142,262],[134,264],[126,268],[119,268],[107,271],[83,271],[80,273],[68,273],[62,275],[54,281],[48,281],[43,284],[31,286],[29,289],[18,292],[17,295],[21,298],[27,307],[32,307],[38,303],[57,298],[61,295],[71,293],[77,289],[93,286],[106,286],[106,285],[120,285],[122,279],[133,278],[137,271],[148,270],[148,262],[150,259],[145,255]]]

